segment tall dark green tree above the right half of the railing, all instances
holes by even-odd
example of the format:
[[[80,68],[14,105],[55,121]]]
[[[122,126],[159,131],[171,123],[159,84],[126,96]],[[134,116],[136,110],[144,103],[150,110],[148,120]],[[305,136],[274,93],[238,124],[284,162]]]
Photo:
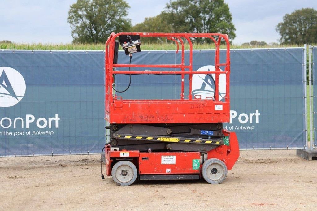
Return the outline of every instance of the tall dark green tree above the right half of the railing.
[[[228,4],[223,0],[170,1],[163,14],[174,32],[222,33],[231,40],[236,37]],[[197,39],[197,42],[211,40]]]

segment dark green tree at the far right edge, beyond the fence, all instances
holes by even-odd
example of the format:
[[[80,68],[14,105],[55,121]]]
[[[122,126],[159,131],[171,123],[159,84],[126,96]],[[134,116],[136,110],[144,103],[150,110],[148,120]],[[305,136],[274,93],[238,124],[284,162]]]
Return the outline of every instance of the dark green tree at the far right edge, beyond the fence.
[[[276,26],[283,44],[317,43],[317,11],[313,8],[295,10]]]

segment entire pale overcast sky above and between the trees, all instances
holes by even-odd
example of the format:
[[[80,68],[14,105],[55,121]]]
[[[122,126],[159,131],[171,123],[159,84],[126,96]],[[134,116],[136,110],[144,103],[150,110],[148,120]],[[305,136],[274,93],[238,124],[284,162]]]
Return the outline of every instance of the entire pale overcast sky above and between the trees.
[[[69,6],[76,0],[1,0],[0,41],[70,43]],[[169,0],[127,0],[132,23],[158,15]],[[285,14],[317,10],[317,0],[225,0],[236,27],[235,44],[251,40],[277,42],[275,26]]]

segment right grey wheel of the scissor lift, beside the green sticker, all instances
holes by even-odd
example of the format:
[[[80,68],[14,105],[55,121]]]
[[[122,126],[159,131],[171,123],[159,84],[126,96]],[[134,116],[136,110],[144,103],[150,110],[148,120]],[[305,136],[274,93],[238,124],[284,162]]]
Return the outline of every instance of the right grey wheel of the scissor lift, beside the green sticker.
[[[210,158],[204,162],[201,173],[210,184],[219,184],[226,179],[228,169],[221,160]]]

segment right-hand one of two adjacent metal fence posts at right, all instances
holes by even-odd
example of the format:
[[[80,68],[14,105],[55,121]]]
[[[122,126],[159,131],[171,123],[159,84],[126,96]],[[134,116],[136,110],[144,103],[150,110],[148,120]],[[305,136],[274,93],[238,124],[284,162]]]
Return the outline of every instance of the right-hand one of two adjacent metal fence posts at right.
[[[308,77],[309,77],[309,118],[310,118],[310,149],[313,149],[314,146],[314,125],[313,125],[313,87],[312,87],[312,45],[308,46]]]

